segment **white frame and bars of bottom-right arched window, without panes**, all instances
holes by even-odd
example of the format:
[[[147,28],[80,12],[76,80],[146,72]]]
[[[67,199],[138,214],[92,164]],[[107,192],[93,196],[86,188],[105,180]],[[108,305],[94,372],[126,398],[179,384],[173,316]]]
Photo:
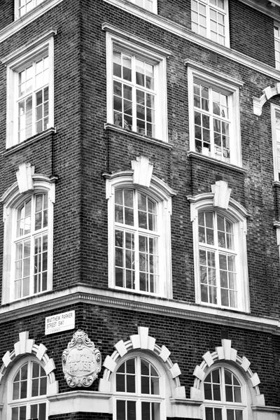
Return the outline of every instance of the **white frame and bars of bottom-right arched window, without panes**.
[[[216,401],[216,400],[206,400],[204,398],[204,381],[202,381],[201,383],[201,391],[202,391],[202,398],[204,400],[203,402],[203,420],[206,420],[206,414],[205,414],[205,408],[206,407],[213,407],[213,408],[220,408],[222,409],[222,420],[227,420],[227,416],[226,416],[226,409],[242,409],[242,420],[248,420],[248,414],[249,414],[249,409],[248,406],[249,404],[251,405],[251,393],[248,387],[248,384],[246,382],[246,380],[244,379],[243,375],[241,374],[241,372],[239,372],[239,370],[232,365],[228,365],[226,363],[214,363],[214,365],[212,365],[207,372],[204,374],[204,379],[208,376],[208,374],[210,372],[212,372],[213,370],[229,370],[232,374],[235,375],[235,377],[237,377],[240,385],[241,385],[241,400],[242,402],[227,402],[225,401],[225,399],[223,400],[223,398],[221,399],[221,401]],[[221,379],[221,384],[222,386],[224,385],[223,383],[223,379]],[[221,395],[223,395],[223,389],[221,390]]]

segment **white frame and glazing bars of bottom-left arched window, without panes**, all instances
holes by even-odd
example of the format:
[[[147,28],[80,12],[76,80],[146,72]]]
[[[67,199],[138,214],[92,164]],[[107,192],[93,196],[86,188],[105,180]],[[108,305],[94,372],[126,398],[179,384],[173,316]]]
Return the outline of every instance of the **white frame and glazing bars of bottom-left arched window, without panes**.
[[[27,398],[22,398],[18,400],[13,400],[13,381],[15,379],[15,375],[18,373],[20,368],[27,363]],[[45,419],[48,419],[48,400],[46,395],[48,395],[48,386],[49,386],[49,378],[48,375],[45,373],[46,381],[47,381],[47,388],[46,393],[44,395],[38,395],[36,397],[31,396],[31,363],[37,363],[45,372],[43,367],[43,363],[41,363],[35,356],[31,355],[28,358],[22,358],[15,363],[15,365],[10,370],[8,375],[7,381],[7,419],[12,419],[12,409],[13,407],[27,407],[27,418],[31,418],[30,408],[31,405],[45,403]],[[45,420],[44,419],[44,420]]]

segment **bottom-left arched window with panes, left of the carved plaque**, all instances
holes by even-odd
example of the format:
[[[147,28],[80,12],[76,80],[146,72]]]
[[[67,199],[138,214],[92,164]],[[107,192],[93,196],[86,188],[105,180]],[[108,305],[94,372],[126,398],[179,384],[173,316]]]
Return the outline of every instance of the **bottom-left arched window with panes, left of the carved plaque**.
[[[35,360],[25,360],[14,369],[8,393],[8,419],[48,419],[45,398],[47,381],[45,370]]]

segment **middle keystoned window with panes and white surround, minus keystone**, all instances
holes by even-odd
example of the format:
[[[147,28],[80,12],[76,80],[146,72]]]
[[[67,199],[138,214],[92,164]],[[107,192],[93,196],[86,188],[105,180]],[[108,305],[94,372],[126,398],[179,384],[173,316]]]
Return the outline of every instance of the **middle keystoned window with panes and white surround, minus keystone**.
[[[132,175],[121,174],[116,177],[108,174],[106,185],[109,286],[126,292],[172,297],[172,190],[155,177],[147,188],[134,185]]]

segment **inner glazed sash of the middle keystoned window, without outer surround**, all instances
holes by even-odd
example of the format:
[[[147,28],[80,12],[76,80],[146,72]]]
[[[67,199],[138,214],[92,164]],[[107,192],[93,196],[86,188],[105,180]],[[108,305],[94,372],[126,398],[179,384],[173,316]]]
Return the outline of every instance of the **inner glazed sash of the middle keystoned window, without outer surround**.
[[[158,204],[139,190],[116,190],[116,287],[159,293],[159,237]]]

